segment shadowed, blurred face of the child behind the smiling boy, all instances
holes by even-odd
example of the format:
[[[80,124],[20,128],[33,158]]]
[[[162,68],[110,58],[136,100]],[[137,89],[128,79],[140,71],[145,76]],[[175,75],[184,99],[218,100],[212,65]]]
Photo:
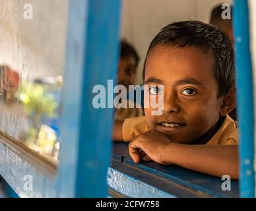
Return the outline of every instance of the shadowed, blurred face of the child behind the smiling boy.
[[[119,61],[117,84],[124,85],[128,88],[129,85],[135,83],[136,76],[136,61],[133,56],[121,58]]]

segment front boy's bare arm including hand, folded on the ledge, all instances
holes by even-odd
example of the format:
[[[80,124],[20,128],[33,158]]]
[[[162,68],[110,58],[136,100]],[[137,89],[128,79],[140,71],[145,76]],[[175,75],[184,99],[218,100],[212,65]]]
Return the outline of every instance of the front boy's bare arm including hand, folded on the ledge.
[[[137,163],[146,154],[159,164],[176,164],[217,177],[230,175],[238,179],[237,145],[177,144],[158,131],[148,131],[130,142],[129,154]]]

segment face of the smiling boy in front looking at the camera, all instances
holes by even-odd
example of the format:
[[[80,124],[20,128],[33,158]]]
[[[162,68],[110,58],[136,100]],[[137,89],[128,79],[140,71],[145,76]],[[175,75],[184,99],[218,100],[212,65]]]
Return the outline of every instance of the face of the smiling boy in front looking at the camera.
[[[218,98],[214,58],[203,49],[157,45],[146,59],[144,81],[149,87],[164,85],[162,115],[152,115],[150,107],[144,109],[151,129],[173,142],[189,144],[216,126],[222,97]],[[161,92],[158,88],[145,91],[156,101]]]

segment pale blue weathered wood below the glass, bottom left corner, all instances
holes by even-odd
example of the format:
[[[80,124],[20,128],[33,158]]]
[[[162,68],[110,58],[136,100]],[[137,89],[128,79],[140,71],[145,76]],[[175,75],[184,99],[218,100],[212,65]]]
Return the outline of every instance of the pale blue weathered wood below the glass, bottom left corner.
[[[0,173],[19,197],[55,197],[55,177],[40,165],[34,165],[18,149],[0,142]],[[24,189],[27,176],[32,177],[32,190]],[[46,187],[45,182],[48,186]],[[51,193],[51,195],[49,195]]]

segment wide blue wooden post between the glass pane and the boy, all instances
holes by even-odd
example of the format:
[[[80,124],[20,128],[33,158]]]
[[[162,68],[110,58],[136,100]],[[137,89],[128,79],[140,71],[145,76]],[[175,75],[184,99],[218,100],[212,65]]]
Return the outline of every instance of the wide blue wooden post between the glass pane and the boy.
[[[92,88],[115,84],[120,10],[120,0],[70,1],[57,196],[107,196],[113,109],[95,109]]]

